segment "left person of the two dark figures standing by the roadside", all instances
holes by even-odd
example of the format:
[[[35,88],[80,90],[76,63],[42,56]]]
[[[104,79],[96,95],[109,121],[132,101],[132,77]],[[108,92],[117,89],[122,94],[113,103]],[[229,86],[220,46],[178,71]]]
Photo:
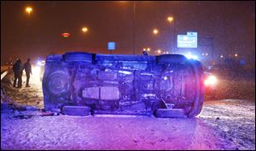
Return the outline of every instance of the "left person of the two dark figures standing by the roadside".
[[[14,87],[16,87],[16,81],[18,80],[18,88],[20,88],[22,85],[22,72],[23,72],[23,65],[20,59],[17,59],[17,61],[13,65],[13,70],[15,73]]]

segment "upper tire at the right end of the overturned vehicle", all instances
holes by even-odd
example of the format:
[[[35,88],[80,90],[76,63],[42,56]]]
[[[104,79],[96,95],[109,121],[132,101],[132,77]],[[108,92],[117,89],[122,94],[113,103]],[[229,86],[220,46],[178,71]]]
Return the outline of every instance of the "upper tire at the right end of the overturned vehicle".
[[[186,62],[188,59],[182,54],[164,54],[156,56],[156,63]]]

